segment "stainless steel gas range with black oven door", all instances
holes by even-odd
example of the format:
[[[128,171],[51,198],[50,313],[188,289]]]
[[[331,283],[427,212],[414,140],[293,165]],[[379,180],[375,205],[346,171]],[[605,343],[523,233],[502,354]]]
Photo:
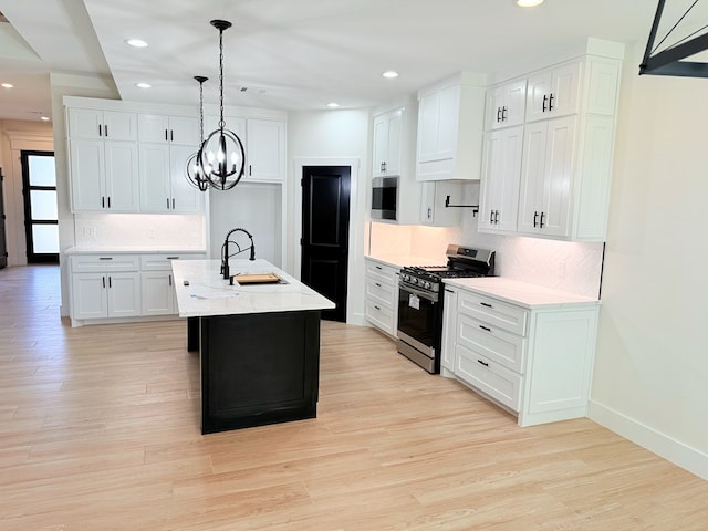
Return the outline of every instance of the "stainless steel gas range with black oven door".
[[[491,277],[494,251],[449,244],[446,266],[412,266],[398,282],[398,352],[425,368],[440,372],[445,279]]]

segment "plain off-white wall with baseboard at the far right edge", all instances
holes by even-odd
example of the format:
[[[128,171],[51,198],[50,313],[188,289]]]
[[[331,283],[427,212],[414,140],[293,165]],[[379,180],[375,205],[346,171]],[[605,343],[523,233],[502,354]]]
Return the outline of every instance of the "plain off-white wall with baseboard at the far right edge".
[[[706,80],[625,61],[591,415],[708,479]]]

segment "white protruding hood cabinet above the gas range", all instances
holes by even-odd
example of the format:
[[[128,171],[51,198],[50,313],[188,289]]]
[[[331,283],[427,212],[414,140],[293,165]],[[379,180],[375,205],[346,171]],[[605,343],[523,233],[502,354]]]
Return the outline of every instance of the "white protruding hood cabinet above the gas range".
[[[418,180],[479,180],[485,80],[460,73],[418,91]]]

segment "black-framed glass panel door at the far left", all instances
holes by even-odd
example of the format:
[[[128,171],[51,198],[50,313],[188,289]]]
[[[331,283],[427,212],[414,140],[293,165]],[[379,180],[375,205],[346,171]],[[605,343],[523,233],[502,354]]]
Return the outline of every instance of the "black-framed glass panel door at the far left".
[[[56,173],[53,152],[22,152],[28,263],[59,263]]]

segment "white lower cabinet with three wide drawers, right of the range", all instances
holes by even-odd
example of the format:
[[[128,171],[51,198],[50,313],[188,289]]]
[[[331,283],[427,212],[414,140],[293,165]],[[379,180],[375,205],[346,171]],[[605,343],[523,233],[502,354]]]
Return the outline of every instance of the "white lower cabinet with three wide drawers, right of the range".
[[[514,292],[524,285],[539,291],[517,282]],[[598,303],[540,290],[543,302],[517,305],[446,285],[442,375],[514,413],[520,426],[585,416],[590,394]]]

